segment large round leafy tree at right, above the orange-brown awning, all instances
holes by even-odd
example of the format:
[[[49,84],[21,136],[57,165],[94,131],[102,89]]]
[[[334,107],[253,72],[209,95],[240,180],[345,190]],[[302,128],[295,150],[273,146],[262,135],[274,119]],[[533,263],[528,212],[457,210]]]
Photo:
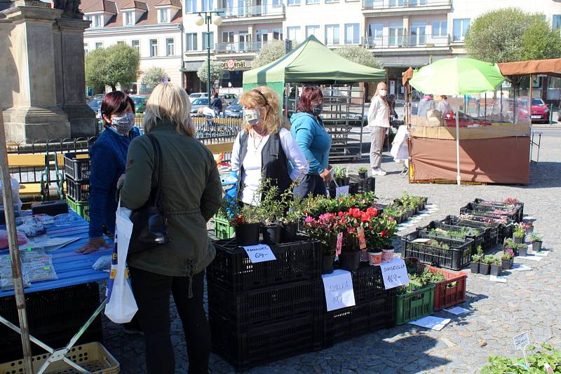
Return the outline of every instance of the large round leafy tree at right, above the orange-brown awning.
[[[476,18],[466,35],[468,55],[487,62],[560,57],[560,35],[543,14],[520,8],[489,11]]]

